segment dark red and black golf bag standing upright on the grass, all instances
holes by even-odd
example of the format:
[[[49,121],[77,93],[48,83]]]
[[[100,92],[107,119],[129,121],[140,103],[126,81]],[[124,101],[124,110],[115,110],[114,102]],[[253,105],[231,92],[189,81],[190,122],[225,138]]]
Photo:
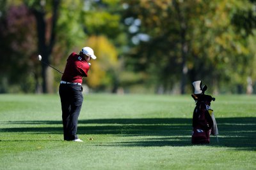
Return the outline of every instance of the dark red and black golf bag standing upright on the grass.
[[[193,144],[210,143],[210,134],[218,135],[217,124],[211,110],[211,101],[215,98],[205,95],[207,86],[202,87],[201,81],[193,82],[195,89],[191,96],[196,101],[195,110],[193,112],[193,132],[191,142]]]

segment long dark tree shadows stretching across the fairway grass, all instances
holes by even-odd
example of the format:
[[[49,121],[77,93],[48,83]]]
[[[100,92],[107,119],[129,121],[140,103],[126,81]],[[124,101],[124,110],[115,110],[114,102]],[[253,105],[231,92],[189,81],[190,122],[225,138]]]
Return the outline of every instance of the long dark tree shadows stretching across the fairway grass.
[[[134,136],[131,141],[106,143],[113,146],[190,146],[191,118],[113,118],[79,120],[78,134],[113,134]],[[211,137],[211,146],[227,146],[239,150],[255,150],[256,117],[217,118],[220,136],[217,143]],[[61,121],[17,121],[29,127],[3,128],[0,132],[62,134]],[[48,125],[48,126],[47,126]],[[51,125],[49,127],[49,125]],[[56,126],[54,126],[56,125]],[[138,138],[136,137],[138,136]],[[141,136],[143,138],[141,138]]]

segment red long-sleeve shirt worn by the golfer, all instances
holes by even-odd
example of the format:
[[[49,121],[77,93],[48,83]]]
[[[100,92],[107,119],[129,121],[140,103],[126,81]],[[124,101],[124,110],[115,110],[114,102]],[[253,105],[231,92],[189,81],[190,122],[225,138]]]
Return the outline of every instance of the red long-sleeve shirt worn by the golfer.
[[[83,77],[88,76],[90,66],[86,60],[77,53],[71,53],[67,59],[65,71],[61,80],[70,83],[82,83]]]

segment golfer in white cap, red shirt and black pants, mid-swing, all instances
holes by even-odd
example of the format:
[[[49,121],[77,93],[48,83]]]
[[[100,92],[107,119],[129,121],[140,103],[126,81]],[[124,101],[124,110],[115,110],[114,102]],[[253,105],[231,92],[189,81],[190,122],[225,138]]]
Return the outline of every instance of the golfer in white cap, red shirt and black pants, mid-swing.
[[[90,59],[96,59],[92,48],[86,46],[79,54],[73,52],[67,59],[60,81],[62,123],[65,141],[83,142],[77,137],[77,121],[83,103],[83,77],[88,76]]]

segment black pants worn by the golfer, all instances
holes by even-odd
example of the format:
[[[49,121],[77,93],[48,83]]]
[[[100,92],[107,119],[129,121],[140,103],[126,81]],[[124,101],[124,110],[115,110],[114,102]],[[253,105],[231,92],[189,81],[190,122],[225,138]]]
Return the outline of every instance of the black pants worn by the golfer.
[[[60,99],[64,140],[78,139],[77,121],[83,104],[81,85],[60,84]]]

